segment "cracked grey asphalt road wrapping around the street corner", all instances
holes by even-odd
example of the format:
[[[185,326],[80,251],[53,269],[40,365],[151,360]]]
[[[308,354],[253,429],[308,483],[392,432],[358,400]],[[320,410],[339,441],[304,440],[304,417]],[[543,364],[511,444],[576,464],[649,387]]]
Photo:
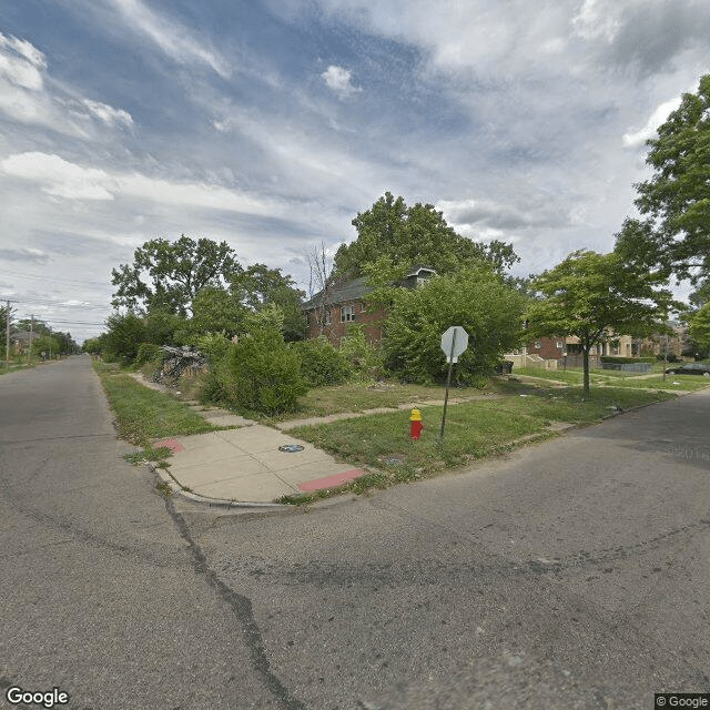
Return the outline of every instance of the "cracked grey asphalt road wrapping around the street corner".
[[[121,460],[88,358],[0,377],[0,682],[94,709],[710,692],[709,420],[704,390],[455,475],[215,516]]]

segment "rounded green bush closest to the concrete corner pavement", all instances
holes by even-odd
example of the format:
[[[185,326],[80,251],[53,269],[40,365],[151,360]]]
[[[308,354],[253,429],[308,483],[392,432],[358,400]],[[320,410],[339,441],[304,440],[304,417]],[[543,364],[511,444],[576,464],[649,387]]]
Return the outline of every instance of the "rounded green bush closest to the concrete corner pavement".
[[[301,358],[273,328],[243,336],[231,349],[227,366],[234,404],[243,409],[275,416],[295,409],[308,392]]]

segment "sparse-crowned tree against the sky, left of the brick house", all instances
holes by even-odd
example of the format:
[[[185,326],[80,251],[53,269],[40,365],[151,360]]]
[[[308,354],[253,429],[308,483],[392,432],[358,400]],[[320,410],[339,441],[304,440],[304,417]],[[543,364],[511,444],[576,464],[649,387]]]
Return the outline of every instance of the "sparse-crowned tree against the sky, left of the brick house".
[[[133,264],[112,270],[111,283],[118,286],[112,305],[131,311],[162,310],[184,317],[202,288],[224,287],[239,271],[235,253],[226,242],[195,242],[184,234],[173,243],[151,240],[135,250]]]

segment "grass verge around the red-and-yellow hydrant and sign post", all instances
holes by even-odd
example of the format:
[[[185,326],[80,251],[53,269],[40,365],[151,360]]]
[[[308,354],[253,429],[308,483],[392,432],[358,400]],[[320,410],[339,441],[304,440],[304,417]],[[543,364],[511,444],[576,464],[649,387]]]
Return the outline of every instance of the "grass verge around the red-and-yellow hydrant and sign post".
[[[517,446],[520,439],[555,436],[552,422],[590,423],[617,408],[673,398],[671,393],[599,388],[582,397],[580,387],[557,388],[500,379],[500,399],[452,405],[447,410],[444,442],[438,435],[442,406],[423,405],[425,429],[419,440],[409,438],[407,412],[301,426],[288,434],[344,458],[378,469],[346,489],[414,480],[469,460],[495,456]],[[295,501],[291,500],[291,501]]]

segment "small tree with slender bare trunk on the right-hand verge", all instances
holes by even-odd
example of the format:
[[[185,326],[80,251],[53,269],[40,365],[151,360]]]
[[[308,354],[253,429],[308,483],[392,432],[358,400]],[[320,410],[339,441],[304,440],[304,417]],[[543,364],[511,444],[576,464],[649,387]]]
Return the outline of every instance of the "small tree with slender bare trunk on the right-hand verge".
[[[584,390],[589,394],[589,352],[612,334],[635,336],[659,332],[676,304],[658,272],[626,267],[616,252],[585,250],[540,274],[532,286],[542,298],[528,306],[528,336],[574,335],[584,362]]]

